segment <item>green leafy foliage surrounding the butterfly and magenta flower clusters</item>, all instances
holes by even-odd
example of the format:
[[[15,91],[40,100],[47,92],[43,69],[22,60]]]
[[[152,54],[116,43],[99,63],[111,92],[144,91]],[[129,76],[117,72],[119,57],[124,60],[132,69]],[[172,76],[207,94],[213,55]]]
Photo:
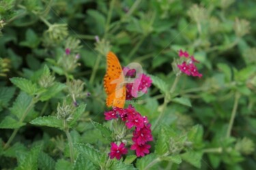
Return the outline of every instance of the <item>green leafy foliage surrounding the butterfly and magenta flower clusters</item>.
[[[255,169],[255,7],[253,0],[0,1],[0,168]],[[201,62],[203,77],[182,76],[170,96],[180,49]],[[134,105],[154,127],[143,158],[107,158],[109,50],[122,66],[138,62],[152,75],[144,104]]]

